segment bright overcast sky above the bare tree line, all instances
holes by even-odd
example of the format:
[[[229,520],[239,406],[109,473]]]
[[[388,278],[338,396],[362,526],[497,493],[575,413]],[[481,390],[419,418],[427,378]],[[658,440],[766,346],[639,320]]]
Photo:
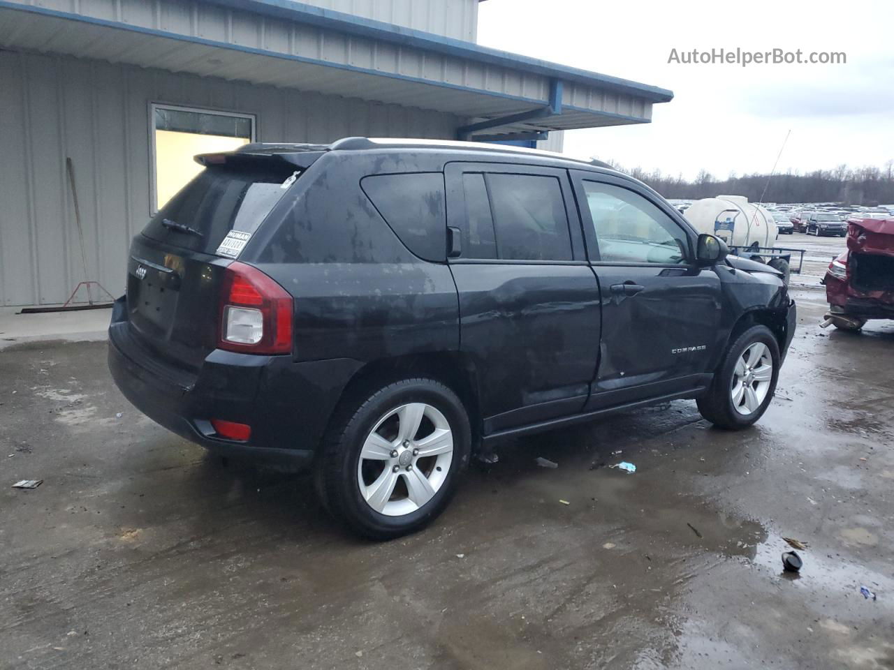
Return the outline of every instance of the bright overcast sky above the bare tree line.
[[[487,0],[478,42],[670,88],[649,124],[572,130],[565,152],[692,178],[894,158],[894,2]],[[668,63],[713,47],[847,54],[847,64]]]

